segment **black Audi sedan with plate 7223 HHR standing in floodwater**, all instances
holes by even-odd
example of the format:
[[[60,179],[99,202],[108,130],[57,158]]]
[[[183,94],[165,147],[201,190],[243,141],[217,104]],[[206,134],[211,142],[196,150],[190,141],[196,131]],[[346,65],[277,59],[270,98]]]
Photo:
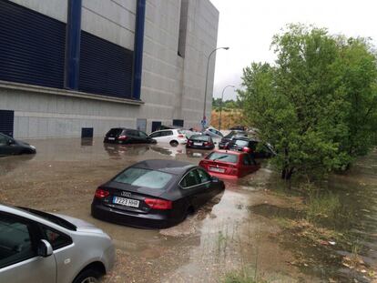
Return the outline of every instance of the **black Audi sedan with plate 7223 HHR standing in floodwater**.
[[[201,167],[145,160],[97,188],[92,216],[133,227],[171,227],[224,188],[221,180]]]

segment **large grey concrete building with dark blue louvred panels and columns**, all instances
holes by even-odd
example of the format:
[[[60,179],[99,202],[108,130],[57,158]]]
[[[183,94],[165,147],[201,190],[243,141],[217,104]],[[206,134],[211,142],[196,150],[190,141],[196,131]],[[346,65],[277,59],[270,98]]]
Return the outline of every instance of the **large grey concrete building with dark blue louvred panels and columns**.
[[[209,0],[1,0],[0,132],[199,126],[218,23]]]

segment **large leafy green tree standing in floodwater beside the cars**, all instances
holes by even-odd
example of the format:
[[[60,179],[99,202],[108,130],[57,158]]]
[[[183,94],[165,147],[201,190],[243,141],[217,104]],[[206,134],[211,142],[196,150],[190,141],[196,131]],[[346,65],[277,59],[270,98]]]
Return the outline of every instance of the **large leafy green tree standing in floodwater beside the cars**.
[[[244,69],[243,115],[276,147],[282,178],[344,169],[372,144],[377,75],[370,46],[304,25],[290,25],[272,46],[274,66]]]

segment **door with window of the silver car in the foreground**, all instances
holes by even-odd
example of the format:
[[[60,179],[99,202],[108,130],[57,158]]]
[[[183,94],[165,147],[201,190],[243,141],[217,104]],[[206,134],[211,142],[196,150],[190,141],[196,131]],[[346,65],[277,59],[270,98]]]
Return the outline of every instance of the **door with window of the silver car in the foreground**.
[[[0,212],[0,281],[6,283],[54,283],[54,255],[36,254],[36,225],[24,218]]]

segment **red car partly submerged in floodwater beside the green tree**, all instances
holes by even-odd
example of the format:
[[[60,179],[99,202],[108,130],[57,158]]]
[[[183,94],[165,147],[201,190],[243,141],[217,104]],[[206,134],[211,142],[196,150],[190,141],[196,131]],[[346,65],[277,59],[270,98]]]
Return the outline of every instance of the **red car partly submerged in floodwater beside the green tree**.
[[[250,154],[229,150],[212,151],[200,161],[199,167],[205,168],[211,176],[220,178],[244,177],[260,168]]]

